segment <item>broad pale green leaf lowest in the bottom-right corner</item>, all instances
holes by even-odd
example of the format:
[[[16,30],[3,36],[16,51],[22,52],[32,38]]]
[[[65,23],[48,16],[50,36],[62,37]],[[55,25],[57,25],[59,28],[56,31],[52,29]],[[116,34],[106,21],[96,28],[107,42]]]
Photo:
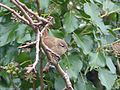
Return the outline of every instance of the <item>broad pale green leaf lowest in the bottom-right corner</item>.
[[[106,69],[100,69],[98,71],[98,76],[101,83],[106,87],[107,90],[112,89],[112,86],[114,85],[115,80],[117,79],[117,75],[111,73]]]

